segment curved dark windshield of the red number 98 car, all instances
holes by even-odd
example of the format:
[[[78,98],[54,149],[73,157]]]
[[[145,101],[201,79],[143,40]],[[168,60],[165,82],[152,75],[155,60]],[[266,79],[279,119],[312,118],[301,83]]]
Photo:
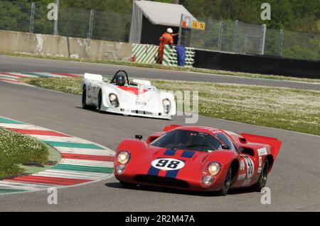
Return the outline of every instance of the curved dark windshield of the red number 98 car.
[[[209,152],[221,149],[221,142],[205,132],[191,130],[172,130],[157,138],[150,145],[168,149],[188,149]]]

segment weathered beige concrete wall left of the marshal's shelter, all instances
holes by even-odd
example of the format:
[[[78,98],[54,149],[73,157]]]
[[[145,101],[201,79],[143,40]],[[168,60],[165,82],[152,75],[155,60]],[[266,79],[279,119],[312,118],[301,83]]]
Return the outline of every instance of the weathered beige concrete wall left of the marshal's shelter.
[[[0,30],[0,52],[129,61],[132,44]]]

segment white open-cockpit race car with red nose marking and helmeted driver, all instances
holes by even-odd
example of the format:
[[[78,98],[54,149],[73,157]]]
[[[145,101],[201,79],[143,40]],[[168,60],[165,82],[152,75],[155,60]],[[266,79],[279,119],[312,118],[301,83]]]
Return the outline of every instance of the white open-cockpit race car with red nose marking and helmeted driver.
[[[82,81],[82,108],[100,112],[172,119],[176,115],[174,95],[156,89],[150,81],[133,79],[119,70],[110,83],[101,74],[86,73]]]

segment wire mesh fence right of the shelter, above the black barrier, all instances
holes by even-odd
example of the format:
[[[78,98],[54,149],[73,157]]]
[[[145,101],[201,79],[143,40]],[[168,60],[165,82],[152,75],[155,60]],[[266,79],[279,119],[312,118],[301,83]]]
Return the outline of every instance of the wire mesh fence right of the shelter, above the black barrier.
[[[241,21],[213,21],[205,30],[181,28],[181,45],[204,50],[320,60],[320,35],[294,33]]]

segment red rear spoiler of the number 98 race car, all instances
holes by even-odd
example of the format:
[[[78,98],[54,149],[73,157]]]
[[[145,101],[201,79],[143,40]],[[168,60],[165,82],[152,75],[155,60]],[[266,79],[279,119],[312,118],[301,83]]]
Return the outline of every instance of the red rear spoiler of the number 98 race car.
[[[277,155],[279,153],[279,149],[280,149],[281,144],[282,144],[282,142],[279,141],[277,138],[264,137],[264,136],[260,136],[260,135],[249,134],[249,133],[241,133],[241,135],[248,142],[260,143],[260,144],[264,144],[264,145],[270,145],[273,159],[277,158]]]

